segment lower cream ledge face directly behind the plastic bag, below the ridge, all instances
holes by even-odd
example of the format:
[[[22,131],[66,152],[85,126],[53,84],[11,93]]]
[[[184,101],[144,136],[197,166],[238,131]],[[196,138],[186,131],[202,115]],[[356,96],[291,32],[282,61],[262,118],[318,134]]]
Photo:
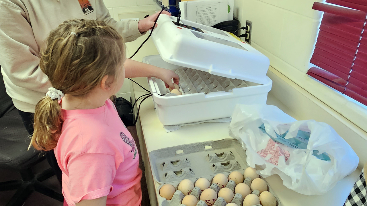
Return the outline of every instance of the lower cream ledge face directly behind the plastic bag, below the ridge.
[[[367,133],[364,130],[335,112],[273,67],[269,67],[267,76],[273,81],[269,95],[283,103],[292,112],[292,114],[288,112],[289,115],[297,120],[315,119],[319,122],[326,122],[333,127],[358,155],[359,169],[363,168],[363,164],[367,162]]]

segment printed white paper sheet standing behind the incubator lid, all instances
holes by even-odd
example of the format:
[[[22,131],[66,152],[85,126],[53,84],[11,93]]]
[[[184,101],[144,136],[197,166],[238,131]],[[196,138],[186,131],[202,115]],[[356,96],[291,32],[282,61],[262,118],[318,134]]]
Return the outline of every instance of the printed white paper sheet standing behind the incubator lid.
[[[228,0],[181,1],[179,6],[183,18],[192,22],[213,26],[228,20]]]

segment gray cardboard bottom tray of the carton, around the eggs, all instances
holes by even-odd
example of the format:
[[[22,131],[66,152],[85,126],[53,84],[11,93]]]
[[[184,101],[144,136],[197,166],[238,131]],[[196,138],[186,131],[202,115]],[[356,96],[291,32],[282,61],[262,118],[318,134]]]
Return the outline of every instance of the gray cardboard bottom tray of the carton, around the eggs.
[[[244,173],[244,170],[237,170],[239,171],[240,173]],[[227,177],[229,176],[230,172],[226,172],[226,173],[223,173],[225,174]],[[212,183],[212,179],[213,179],[214,176],[207,176],[205,178],[207,178],[210,183]],[[263,177],[260,177],[262,180],[265,181],[266,185],[268,186],[268,192],[270,192],[271,194],[274,195],[275,199],[276,199],[276,206],[281,206],[281,203],[279,201],[279,198],[275,195],[274,191],[272,190],[272,188],[270,188],[270,185],[269,183],[263,178]],[[199,179],[199,178],[197,178]],[[195,185],[195,181],[196,179],[190,179],[194,185]],[[186,205],[183,205],[182,204],[182,199],[185,197],[185,195],[178,190],[178,184],[180,183],[181,181],[174,181],[174,182],[171,182],[171,183],[167,183],[167,184],[171,184],[173,185],[175,188],[176,188],[176,192],[174,193],[174,195],[172,196],[172,199],[171,200],[167,200],[166,198],[163,198],[162,196],[159,195],[159,190],[160,188],[163,186],[163,184],[159,185],[158,189],[157,189],[157,197],[158,197],[158,205],[159,206],[186,206]],[[251,178],[248,177],[246,178],[243,183],[247,184],[250,188],[251,188]],[[233,193],[235,193],[235,187],[236,187],[236,183],[233,181],[233,180],[230,180],[228,181],[227,185],[226,185],[226,188],[229,188],[232,190]],[[218,192],[219,192],[219,187],[218,185],[216,184],[211,184],[210,187],[211,189],[213,189],[215,192],[217,192],[217,196],[218,196]],[[260,195],[260,191],[258,190],[254,190],[252,191],[252,194],[255,194],[257,196]],[[192,192],[190,193],[191,195],[194,195],[198,202],[196,204],[196,206],[208,206],[206,204],[206,202],[200,200],[200,195],[201,195],[201,190],[199,187],[194,187],[194,189],[192,190]],[[235,194],[235,196],[233,197],[232,201],[233,203],[236,203],[237,206],[243,206],[243,200],[244,198],[242,197],[241,194],[237,193]],[[215,206],[225,206],[227,203],[225,202],[225,200],[222,198],[222,197],[218,197],[217,200],[214,202],[214,205]],[[261,206],[261,205],[253,205],[253,206]]]

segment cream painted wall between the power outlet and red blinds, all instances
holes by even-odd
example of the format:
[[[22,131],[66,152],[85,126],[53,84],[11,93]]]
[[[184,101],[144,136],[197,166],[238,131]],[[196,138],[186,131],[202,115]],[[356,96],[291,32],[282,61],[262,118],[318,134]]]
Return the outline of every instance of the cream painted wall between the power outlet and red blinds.
[[[321,18],[321,12],[312,10],[314,2],[243,0],[241,20],[252,22],[251,45],[306,72]]]

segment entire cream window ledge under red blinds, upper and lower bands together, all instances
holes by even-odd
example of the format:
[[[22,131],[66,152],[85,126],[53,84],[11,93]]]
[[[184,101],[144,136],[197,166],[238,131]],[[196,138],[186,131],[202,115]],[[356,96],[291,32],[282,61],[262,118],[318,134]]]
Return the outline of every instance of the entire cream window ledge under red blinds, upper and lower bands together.
[[[270,94],[289,108],[297,120],[315,119],[333,127],[356,152],[360,158],[359,169],[362,169],[367,162],[366,108],[258,45],[251,45],[270,59],[267,73],[273,80]],[[306,64],[308,62],[305,68]]]

